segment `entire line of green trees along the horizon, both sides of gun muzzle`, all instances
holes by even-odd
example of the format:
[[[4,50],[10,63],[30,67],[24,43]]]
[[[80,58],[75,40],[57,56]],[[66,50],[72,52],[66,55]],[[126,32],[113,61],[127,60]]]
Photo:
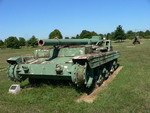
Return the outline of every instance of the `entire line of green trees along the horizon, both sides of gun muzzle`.
[[[132,30],[129,30],[125,32],[122,28],[121,25],[117,26],[116,30],[111,33],[107,34],[98,34],[95,31],[88,31],[88,30],[82,30],[80,34],[77,34],[75,39],[83,39],[83,38],[91,38],[92,36],[101,36],[105,37],[106,39],[110,40],[125,40],[125,39],[133,39],[135,36],[139,36],[139,38],[144,38],[144,39],[150,39],[150,31],[138,31],[134,32]],[[61,32],[58,29],[55,29],[49,34],[49,39],[62,39],[63,36]],[[69,37],[65,37],[65,39],[68,39]],[[29,40],[25,40],[23,37],[14,37],[10,36],[5,41],[3,42],[0,40],[0,48],[21,48],[23,46],[31,46],[31,47],[36,47],[38,45],[38,39],[33,35]]]

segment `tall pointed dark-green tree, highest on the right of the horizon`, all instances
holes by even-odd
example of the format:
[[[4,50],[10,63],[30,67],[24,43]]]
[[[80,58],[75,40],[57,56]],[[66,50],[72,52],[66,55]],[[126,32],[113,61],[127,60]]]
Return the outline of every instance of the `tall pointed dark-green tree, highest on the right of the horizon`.
[[[115,30],[115,32],[114,32],[113,38],[114,38],[115,40],[121,40],[121,41],[126,38],[125,32],[124,32],[124,30],[122,29],[122,26],[121,26],[121,25],[119,25],[119,26],[116,28],[116,30]]]

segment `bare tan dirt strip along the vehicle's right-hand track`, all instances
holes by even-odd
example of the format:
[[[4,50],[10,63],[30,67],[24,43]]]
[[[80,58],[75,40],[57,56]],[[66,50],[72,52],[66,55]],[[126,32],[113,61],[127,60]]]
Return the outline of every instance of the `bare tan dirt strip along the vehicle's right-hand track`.
[[[97,94],[100,91],[102,91],[116,77],[116,75],[119,73],[119,71],[122,68],[123,68],[123,66],[118,67],[117,70],[115,70],[114,73],[107,80],[105,80],[100,87],[94,89],[94,91],[90,95],[83,94],[76,101],[77,102],[84,101],[84,102],[87,102],[87,103],[93,103],[93,101],[96,98]]]

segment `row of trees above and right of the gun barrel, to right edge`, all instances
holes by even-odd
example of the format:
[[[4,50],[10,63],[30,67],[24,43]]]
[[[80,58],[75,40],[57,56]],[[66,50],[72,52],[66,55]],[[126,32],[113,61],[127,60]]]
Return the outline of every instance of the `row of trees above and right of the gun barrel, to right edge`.
[[[111,32],[111,33],[106,33],[106,34],[98,34],[95,31],[87,31],[87,30],[82,30],[80,34],[77,34],[75,37],[71,38],[76,38],[76,39],[83,39],[83,38],[91,38],[92,36],[101,36],[105,37],[106,39],[109,40],[125,40],[125,39],[133,39],[135,36],[139,36],[139,38],[143,39],[150,39],[150,31],[137,31],[134,32],[132,30],[129,30],[125,32],[122,28],[121,25],[117,26],[117,28]],[[53,38],[59,38],[62,39],[62,34],[58,29],[55,29],[53,32],[50,33],[49,39]],[[69,37],[65,37],[68,39]]]

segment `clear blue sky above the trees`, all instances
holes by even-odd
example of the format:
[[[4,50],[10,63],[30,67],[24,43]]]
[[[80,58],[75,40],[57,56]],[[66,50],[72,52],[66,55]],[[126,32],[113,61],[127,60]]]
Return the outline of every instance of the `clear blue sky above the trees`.
[[[82,30],[98,34],[150,30],[150,0],[0,0],[0,39],[9,36],[48,38],[58,29],[63,37]]]

